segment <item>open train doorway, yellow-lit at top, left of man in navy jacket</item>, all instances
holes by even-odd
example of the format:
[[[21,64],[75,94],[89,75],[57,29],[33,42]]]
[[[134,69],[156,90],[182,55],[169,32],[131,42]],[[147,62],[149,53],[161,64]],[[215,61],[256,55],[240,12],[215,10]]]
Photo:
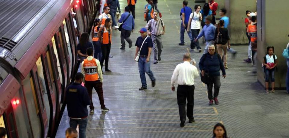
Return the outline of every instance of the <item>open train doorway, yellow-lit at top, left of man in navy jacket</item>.
[[[49,92],[49,89],[47,92],[46,86],[48,86],[48,83],[47,83],[48,81],[45,79],[45,76],[44,76],[45,72],[44,72],[42,61],[41,61],[41,57],[39,57],[38,60],[36,61],[36,67],[37,67],[37,72],[35,73],[34,77],[35,77],[36,81],[38,80],[38,84],[39,84],[38,89],[41,91],[40,94],[42,95],[45,113],[47,116],[47,125],[44,125],[44,127],[46,129],[48,128],[48,130],[45,129],[45,137],[46,137],[48,132],[51,131],[50,126],[52,126],[52,124],[53,124],[52,118],[55,116],[55,114],[53,114],[54,113],[53,109],[55,110],[55,106],[52,103],[51,94]],[[43,115],[43,116],[45,116],[45,115]]]

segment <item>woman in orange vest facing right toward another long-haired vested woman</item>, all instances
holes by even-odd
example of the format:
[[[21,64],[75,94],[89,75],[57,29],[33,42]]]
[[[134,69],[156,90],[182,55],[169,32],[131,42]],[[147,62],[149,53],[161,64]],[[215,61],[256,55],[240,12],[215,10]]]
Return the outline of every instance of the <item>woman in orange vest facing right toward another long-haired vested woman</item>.
[[[94,46],[94,58],[98,59],[99,61],[101,61],[101,57],[102,57],[101,43],[98,38],[98,32],[100,30],[100,26],[101,26],[101,20],[96,18],[91,36],[92,36],[92,44]]]

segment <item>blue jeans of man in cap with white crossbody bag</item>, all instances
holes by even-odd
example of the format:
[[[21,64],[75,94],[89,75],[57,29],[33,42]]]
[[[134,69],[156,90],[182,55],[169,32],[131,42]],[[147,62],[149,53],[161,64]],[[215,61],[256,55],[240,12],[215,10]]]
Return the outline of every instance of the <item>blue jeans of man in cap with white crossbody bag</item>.
[[[145,62],[147,57],[139,57],[138,59],[138,71],[141,76],[141,86],[147,87],[147,80],[145,79],[145,73],[148,74],[151,81],[155,81],[153,72],[151,72],[151,61]]]

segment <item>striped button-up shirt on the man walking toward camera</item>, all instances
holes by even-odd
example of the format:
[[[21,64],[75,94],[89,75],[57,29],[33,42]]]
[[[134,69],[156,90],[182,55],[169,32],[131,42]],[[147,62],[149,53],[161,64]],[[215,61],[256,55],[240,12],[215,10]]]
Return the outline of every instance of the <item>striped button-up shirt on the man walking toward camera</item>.
[[[149,20],[145,28],[149,29],[151,27],[151,34],[161,35],[163,33],[164,26],[165,24],[163,23],[163,20],[160,18],[157,18],[157,20],[155,19]]]

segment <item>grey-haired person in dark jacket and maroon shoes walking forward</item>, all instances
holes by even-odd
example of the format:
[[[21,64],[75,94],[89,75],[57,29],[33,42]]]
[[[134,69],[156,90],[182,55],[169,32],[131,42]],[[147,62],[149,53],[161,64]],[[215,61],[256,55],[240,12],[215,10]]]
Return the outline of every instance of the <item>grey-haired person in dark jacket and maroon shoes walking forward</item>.
[[[215,104],[219,104],[217,97],[219,95],[219,90],[221,87],[220,70],[222,70],[224,79],[226,77],[226,72],[222,58],[218,53],[215,52],[214,45],[210,45],[208,47],[208,53],[202,55],[199,62],[199,67],[202,76],[207,74],[209,75],[210,78],[209,83],[207,84],[208,98],[210,100],[209,105],[213,105],[213,99],[215,101]],[[214,84],[214,97],[213,97],[213,84]]]

